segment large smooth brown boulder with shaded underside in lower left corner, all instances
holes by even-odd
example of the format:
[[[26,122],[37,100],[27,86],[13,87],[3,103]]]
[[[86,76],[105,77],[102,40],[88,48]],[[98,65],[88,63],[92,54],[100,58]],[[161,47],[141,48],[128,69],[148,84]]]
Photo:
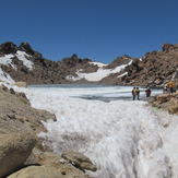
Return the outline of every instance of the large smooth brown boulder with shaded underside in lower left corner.
[[[35,146],[29,133],[0,134],[0,177],[21,168]]]

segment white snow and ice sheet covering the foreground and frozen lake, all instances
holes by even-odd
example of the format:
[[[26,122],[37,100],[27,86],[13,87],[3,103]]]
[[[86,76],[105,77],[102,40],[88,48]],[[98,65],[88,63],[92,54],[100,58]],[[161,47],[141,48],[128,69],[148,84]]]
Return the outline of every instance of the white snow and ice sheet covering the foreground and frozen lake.
[[[120,86],[31,87],[25,93],[33,107],[57,116],[57,122],[44,122],[48,132],[39,137],[45,144],[58,154],[69,149],[84,153],[98,168],[88,171],[91,176],[177,178],[177,116],[154,110],[142,100],[105,103],[80,98],[122,94],[131,98],[130,91]]]

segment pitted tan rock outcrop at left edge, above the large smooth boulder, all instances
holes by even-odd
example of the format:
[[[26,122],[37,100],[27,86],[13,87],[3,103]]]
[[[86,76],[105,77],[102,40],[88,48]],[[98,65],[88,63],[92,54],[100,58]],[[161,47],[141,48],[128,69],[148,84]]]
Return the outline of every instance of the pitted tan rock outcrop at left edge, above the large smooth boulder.
[[[41,121],[56,120],[55,115],[31,107],[24,93],[0,87],[0,133],[46,131]]]

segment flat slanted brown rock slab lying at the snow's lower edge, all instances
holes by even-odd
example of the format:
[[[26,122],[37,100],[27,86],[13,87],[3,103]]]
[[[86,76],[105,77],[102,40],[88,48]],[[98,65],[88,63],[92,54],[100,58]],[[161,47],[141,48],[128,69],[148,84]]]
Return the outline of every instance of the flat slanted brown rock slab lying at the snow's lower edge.
[[[72,163],[78,168],[84,170],[96,171],[96,166],[91,162],[88,157],[79,152],[66,151],[61,155],[64,159]]]

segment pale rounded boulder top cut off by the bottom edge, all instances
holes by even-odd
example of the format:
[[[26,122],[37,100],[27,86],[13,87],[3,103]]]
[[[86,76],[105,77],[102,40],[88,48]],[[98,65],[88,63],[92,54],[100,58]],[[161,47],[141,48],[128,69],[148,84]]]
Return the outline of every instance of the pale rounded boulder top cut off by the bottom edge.
[[[54,167],[46,166],[28,166],[23,168],[7,178],[62,178],[64,176],[61,175]]]

